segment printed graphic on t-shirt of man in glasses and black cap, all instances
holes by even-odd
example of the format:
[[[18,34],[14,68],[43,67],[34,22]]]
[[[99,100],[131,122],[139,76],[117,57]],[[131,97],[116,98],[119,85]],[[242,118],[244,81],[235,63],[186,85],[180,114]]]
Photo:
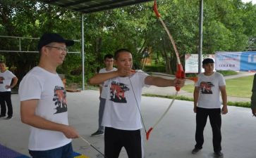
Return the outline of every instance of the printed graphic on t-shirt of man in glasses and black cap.
[[[63,86],[55,86],[53,100],[55,101],[55,109],[57,110],[54,114],[68,111],[66,102],[66,90],[63,88]]]

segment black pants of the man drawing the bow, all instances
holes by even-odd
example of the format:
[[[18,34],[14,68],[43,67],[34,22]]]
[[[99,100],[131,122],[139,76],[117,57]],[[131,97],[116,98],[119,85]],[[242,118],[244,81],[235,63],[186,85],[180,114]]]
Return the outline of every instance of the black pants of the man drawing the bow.
[[[118,158],[122,147],[125,147],[129,158],[142,158],[140,130],[127,131],[105,127],[105,155]]]

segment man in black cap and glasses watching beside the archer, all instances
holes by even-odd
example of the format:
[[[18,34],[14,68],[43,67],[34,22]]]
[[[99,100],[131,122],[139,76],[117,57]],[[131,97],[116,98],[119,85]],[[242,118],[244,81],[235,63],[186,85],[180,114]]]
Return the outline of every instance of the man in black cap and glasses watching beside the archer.
[[[68,125],[66,90],[56,68],[74,41],[44,34],[38,43],[39,65],[20,82],[20,117],[30,125],[28,150],[33,158],[73,158],[71,138],[78,132]]]

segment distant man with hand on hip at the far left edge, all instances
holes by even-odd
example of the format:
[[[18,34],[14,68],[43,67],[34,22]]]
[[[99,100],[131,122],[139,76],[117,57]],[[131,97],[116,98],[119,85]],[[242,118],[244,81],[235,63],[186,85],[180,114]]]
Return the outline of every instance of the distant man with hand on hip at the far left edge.
[[[12,84],[11,84],[11,81]],[[7,105],[7,117],[11,119],[13,117],[13,105],[11,103],[11,88],[16,86],[18,78],[6,69],[6,63],[0,61],[0,105],[1,105],[1,117],[6,116],[6,105]]]

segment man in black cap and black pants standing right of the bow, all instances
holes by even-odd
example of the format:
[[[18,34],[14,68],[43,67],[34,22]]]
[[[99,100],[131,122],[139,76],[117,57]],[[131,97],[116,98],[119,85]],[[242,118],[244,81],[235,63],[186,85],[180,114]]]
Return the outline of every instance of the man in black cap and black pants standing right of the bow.
[[[221,152],[221,113],[228,113],[226,83],[222,74],[214,72],[214,60],[207,58],[202,61],[205,72],[198,74],[198,81],[195,83],[194,90],[194,112],[196,113],[195,148],[192,150],[196,154],[202,149],[204,143],[204,129],[207,117],[212,126],[212,142],[214,156],[223,157]],[[221,109],[221,101],[223,102]]]

